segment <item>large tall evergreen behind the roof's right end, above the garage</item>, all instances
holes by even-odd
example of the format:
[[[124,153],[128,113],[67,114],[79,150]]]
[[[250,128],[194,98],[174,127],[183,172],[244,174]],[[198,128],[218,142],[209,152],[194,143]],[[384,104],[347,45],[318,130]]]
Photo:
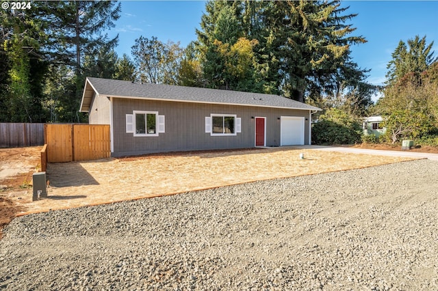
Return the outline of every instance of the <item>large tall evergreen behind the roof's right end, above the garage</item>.
[[[349,36],[355,29],[345,23],[356,15],[343,15],[348,8],[339,1],[279,1],[274,9],[281,19],[279,58],[287,96],[303,101],[306,93],[323,94],[346,66],[356,69],[350,46],[365,39]]]

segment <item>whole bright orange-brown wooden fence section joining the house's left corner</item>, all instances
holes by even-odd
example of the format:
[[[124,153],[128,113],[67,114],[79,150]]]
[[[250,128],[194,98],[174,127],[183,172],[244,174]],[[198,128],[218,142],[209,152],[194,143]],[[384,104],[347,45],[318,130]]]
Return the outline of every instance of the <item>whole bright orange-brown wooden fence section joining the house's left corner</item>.
[[[110,126],[90,124],[45,124],[47,163],[109,158]]]

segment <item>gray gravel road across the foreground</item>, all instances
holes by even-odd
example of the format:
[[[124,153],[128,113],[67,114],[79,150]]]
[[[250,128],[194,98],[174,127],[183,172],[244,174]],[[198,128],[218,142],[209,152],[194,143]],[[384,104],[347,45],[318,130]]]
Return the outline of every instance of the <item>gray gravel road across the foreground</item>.
[[[438,162],[18,217],[5,290],[438,290]]]

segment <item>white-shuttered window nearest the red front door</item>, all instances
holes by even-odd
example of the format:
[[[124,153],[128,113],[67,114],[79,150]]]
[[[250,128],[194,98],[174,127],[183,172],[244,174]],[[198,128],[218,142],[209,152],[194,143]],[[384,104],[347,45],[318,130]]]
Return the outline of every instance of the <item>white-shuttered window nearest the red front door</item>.
[[[240,128],[240,118],[236,115],[211,114],[205,117],[205,132],[210,135],[236,135]]]

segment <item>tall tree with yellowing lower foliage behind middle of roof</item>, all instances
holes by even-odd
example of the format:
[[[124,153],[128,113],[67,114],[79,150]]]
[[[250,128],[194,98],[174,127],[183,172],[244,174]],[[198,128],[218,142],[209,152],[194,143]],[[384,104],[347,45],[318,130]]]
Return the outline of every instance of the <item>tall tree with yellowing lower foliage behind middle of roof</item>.
[[[260,92],[256,81],[255,46],[258,40],[248,35],[242,20],[241,1],[214,1],[206,5],[198,33],[198,51],[207,87]],[[211,25],[209,21],[216,21]]]

